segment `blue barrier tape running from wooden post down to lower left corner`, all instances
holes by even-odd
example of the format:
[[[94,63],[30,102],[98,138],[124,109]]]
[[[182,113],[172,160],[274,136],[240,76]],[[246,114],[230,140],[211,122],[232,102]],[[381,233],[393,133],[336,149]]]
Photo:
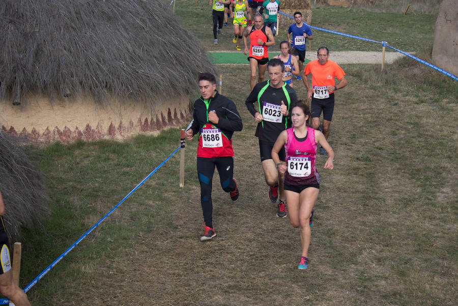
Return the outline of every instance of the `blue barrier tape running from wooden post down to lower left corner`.
[[[159,168],[161,168],[161,166],[168,160],[170,159],[170,157],[172,157],[175,153],[177,153],[177,151],[180,150],[180,147],[178,147],[173,153],[171,153],[163,162],[161,162],[157,167],[156,169],[154,169],[146,178],[144,178],[140,183],[138,183],[137,186],[135,186],[135,188],[133,188],[128,194],[127,196],[124,197],[124,199],[122,199],[115,207],[113,207],[107,214],[105,214],[95,225],[92,226],[92,228],[90,228],[87,232],[85,232],[81,237],[79,237],[78,240],[76,240],[75,243],[73,243],[69,248],[66,249],[66,251],[64,253],[61,254],[61,256],[59,256],[56,260],[54,260],[46,269],[43,270],[43,272],[41,272],[37,277],[35,277],[35,279],[30,283],[28,284],[25,288],[24,288],[24,292],[27,292],[28,290],[30,290],[33,286],[35,286],[35,284],[38,283],[38,281],[40,281],[44,275],[46,275],[46,273],[48,273],[58,262],[60,262],[65,256],[67,256],[68,253],[70,253],[70,251],[72,251],[72,249],[81,241],[83,240],[86,236],[89,235],[89,233],[91,233],[97,226],[99,226],[99,224],[105,220],[113,211],[115,211],[115,209],[118,208],[118,206],[120,206],[124,201],[127,200],[127,198],[130,197],[130,195],[138,189],[138,187],[140,187],[143,183],[145,183]],[[8,304],[9,300],[8,299],[0,299],[0,304]]]

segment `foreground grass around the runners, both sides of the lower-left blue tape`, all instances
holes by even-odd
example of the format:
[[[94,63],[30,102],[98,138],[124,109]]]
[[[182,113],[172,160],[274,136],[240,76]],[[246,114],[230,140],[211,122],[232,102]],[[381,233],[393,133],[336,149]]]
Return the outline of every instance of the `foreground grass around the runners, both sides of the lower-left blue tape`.
[[[193,3],[178,1],[177,14],[213,50],[211,20],[205,28],[194,18]],[[363,19],[391,14],[377,10],[358,9],[367,12]],[[349,24],[348,31],[358,31]],[[424,25],[399,32],[410,26]],[[390,33],[385,30],[379,32]],[[175,154],[32,288],[32,304],[455,305],[458,82],[411,60],[384,73],[375,65],[342,68],[349,86],[336,94],[329,138],[334,170],[323,170],[324,158],[318,159],[322,184],[309,269],[297,270],[299,232],[288,218],[275,217],[267,198],[255,125],[244,105],[248,67],[222,65],[223,94],[235,101],[244,129],[234,135],[238,202],[214,180],[218,236],[198,240],[203,218],[193,140],[186,147],[185,188],[178,187]],[[304,86],[294,85],[305,97]],[[34,158],[47,177],[53,213],[43,228],[23,232],[21,287],[178,146],[179,131],[170,129],[123,143],[40,149]]]

